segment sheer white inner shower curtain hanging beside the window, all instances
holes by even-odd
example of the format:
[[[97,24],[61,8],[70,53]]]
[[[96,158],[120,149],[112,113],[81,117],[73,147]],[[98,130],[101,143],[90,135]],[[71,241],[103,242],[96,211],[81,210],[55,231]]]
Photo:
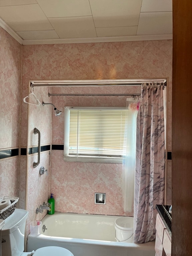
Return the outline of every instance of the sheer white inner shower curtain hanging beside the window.
[[[129,214],[133,214],[136,158],[136,120],[139,109],[139,97],[133,96],[131,98],[127,98],[126,108],[127,117],[122,166],[122,197],[124,211],[128,212]]]

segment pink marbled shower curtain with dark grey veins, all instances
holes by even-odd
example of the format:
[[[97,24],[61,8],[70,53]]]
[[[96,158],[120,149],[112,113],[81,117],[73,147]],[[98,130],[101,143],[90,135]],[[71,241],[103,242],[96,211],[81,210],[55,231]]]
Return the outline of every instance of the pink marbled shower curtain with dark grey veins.
[[[146,243],[155,239],[155,206],[164,198],[163,85],[143,84],[136,134],[133,242]]]

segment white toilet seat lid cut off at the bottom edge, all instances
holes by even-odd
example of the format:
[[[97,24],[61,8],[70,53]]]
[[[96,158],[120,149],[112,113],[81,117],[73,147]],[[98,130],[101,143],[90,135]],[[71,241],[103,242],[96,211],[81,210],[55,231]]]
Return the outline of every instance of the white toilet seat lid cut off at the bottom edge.
[[[57,247],[57,246],[47,246],[37,249],[33,256],[74,256],[69,250]]]

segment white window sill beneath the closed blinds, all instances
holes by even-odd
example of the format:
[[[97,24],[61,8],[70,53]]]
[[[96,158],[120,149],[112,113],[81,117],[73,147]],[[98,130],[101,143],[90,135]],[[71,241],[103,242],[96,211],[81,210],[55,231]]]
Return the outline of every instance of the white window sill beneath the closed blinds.
[[[65,162],[88,162],[88,163],[114,163],[122,164],[122,158],[115,157],[86,157],[86,156],[64,156]]]

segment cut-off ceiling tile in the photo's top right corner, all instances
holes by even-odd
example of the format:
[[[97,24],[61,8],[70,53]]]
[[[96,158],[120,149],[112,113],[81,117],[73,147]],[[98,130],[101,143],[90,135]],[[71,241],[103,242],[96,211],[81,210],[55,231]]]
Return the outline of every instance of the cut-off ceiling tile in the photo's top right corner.
[[[141,12],[171,12],[172,0],[143,0]]]

